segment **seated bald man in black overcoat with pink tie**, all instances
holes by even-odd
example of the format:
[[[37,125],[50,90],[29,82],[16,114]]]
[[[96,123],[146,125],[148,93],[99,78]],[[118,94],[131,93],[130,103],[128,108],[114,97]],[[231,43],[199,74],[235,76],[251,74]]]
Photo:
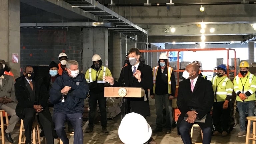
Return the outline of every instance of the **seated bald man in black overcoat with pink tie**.
[[[202,143],[211,142],[213,125],[210,110],[213,106],[214,93],[211,81],[198,76],[198,72],[199,67],[196,64],[189,64],[182,75],[185,79],[179,83],[177,106],[181,115],[177,129],[184,144],[192,143],[190,130],[193,124],[198,124],[202,129]],[[205,116],[204,122],[195,122]]]

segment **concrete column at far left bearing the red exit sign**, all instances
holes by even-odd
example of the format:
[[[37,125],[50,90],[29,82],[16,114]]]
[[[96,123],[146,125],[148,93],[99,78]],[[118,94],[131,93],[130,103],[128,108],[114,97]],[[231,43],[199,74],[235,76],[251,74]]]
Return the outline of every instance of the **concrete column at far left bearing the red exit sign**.
[[[20,76],[20,0],[0,0],[0,59],[9,63],[14,77]],[[18,63],[12,63],[18,54]]]

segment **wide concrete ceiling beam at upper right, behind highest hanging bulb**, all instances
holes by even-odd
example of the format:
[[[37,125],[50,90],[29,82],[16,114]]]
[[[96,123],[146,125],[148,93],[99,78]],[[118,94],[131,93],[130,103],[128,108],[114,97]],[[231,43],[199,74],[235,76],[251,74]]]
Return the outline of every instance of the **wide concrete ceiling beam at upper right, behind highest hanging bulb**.
[[[135,24],[255,23],[255,5],[205,5],[174,7],[113,7],[113,11]]]

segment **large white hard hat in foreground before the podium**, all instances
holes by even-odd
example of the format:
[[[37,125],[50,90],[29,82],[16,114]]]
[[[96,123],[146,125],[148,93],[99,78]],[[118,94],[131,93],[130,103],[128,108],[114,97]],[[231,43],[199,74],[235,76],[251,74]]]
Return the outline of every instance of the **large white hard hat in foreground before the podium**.
[[[134,112],[126,114],[118,128],[118,136],[125,144],[143,144],[151,134],[152,129],[146,119]]]

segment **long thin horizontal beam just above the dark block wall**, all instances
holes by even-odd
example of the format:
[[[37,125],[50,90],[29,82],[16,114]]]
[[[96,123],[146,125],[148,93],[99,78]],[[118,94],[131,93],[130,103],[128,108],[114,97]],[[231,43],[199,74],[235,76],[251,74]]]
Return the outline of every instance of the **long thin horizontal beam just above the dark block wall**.
[[[21,23],[20,27],[61,27],[61,26],[99,26],[99,27],[114,27],[112,23],[99,22],[65,22],[65,23]]]

